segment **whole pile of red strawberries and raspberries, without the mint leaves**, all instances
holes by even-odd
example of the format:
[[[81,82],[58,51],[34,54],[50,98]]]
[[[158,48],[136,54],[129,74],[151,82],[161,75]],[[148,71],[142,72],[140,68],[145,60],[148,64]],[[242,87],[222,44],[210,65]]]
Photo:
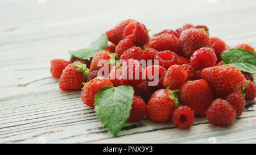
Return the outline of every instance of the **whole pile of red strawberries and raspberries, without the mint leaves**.
[[[256,97],[253,76],[223,64],[221,53],[230,47],[218,37],[209,37],[207,26],[186,24],[150,36],[144,24],[128,19],[105,34],[111,43],[90,60],[72,56],[70,61],[51,61],[51,74],[60,78],[60,89],[82,89],[81,99],[90,107],[105,85],[130,85],[134,98],[128,122],[147,116],[188,129],[195,115],[206,116],[215,125],[230,125],[242,115],[246,100]],[[234,48],[256,54],[248,44]],[[98,65],[100,60],[109,62],[112,55],[122,60],[121,66]],[[102,68],[108,69],[99,76]],[[154,79],[148,74],[157,78],[156,85],[150,85]]]

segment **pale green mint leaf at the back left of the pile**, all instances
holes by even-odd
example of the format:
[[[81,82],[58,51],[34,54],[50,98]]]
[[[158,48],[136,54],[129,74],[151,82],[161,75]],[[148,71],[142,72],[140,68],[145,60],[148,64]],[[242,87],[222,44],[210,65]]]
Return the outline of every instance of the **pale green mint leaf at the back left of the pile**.
[[[77,51],[69,51],[69,53],[76,58],[81,60],[90,60],[98,51],[105,50],[108,46],[108,37],[105,33],[102,33],[100,37],[92,44],[89,45],[88,48],[79,49]]]

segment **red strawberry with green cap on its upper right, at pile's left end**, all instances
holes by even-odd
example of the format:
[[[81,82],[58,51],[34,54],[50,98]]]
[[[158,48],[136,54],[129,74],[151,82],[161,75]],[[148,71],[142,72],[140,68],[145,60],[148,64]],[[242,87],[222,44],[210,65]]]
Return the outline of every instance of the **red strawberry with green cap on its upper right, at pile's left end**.
[[[61,90],[80,90],[82,82],[86,81],[89,74],[89,69],[86,65],[76,62],[69,64],[62,72],[59,87]]]

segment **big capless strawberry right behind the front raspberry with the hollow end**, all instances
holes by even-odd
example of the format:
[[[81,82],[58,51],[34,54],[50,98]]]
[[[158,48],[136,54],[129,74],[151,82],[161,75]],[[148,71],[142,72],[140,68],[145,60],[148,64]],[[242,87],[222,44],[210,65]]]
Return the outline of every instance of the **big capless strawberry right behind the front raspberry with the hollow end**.
[[[195,115],[205,115],[214,97],[210,86],[204,79],[186,82],[179,87],[180,103],[191,107]]]

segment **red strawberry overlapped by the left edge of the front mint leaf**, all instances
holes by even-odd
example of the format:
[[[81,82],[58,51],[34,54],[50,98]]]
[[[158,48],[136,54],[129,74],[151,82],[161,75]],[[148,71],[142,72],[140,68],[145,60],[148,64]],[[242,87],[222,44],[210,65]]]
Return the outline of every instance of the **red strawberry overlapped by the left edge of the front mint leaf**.
[[[86,83],[84,89],[81,91],[82,102],[84,102],[87,106],[94,107],[94,98],[98,91],[106,86],[113,85],[110,79],[105,77],[98,77],[90,82]]]

